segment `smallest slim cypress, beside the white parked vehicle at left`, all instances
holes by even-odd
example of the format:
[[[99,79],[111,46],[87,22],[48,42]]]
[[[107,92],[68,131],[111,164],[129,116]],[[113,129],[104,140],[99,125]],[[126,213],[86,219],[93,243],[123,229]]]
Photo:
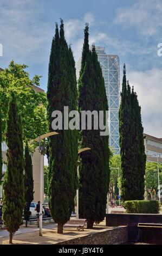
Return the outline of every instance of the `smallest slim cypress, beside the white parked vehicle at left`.
[[[25,225],[27,227],[28,221],[30,219],[30,204],[33,201],[33,165],[31,161],[31,155],[29,153],[28,143],[25,145],[25,177],[24,177],[24,186],[25,186],[25,209],[24,209],[24,220],[26,221]]]

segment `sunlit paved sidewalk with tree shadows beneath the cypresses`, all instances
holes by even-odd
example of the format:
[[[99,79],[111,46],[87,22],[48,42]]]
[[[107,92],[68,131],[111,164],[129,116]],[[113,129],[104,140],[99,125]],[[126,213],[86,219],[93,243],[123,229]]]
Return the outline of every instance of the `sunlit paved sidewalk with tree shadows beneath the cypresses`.
[[[54,245],[59,242],[66,242],[74,238],[81,238],[90,234],[101,233],[104,230],[114,230],[119,227],[106,227],[105,221],[100,224],[94,224],[93,229],[85,229],[84,231],[77,231],[76,227],[66,227],[63,229],[63,234],[57,234],[56,224],[50,223],[43,225],[43,236],[39,236],[38,228],[20,228],[13,237],[14,244],[23,245]],[[3,233],[3,245],[9,244],[9,237],[7,231],[0,231],[0,236]]]

